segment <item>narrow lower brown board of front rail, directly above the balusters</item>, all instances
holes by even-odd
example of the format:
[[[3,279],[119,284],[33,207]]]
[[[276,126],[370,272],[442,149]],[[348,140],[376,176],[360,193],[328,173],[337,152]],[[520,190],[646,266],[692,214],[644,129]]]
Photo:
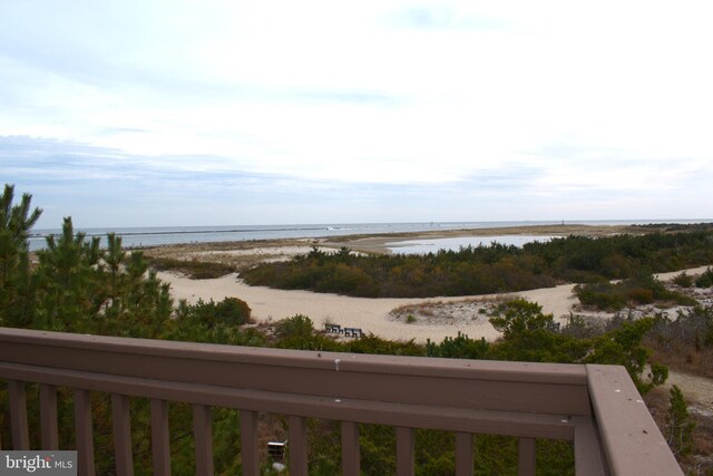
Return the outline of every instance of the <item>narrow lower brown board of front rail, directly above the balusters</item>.
[[[307,417],[343,420],[359,417],[360,422],[476,434],[531,436],[555,439],[574,438],[574,425],[558,415],[520,411],[450,408],[443,406],[325,399],[287,392],[265,392],[213,386],[167,382],[155,379],[106,376],[65,370],[37,370],[29,366],[0,363],[0,373],[22,375],[35,381],[85,386],[92,390],[219,406],[253,411],[281,411]]]

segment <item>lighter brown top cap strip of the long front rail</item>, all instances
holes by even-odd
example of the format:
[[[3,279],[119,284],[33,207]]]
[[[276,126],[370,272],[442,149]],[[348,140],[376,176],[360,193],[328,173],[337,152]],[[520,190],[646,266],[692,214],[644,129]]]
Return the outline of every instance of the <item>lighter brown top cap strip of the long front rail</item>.
[[[407,356],[374,356],[253,348],[214,343],[133,339],[108,336],[76,334],[28,329],[0,328],[0,343],[27,343],[64,349],[85,349],[187,360],[256,363],[369,373],[440,376],[477,380],[587,385],[582,365],[461,360]],[[51,367],[51,362],[48,362]]]

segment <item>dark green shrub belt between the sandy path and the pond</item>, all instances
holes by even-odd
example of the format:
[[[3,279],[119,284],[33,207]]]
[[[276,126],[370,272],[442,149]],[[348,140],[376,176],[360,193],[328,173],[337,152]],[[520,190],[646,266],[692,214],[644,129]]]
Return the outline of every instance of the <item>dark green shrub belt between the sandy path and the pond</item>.
[[[248,284],[368,298],[475,295],[626,279],[713,261],[713,227],[608,237],[567,236],[522,247],[492,243],[424,255],[356,255],[318,249],[245,270]]]

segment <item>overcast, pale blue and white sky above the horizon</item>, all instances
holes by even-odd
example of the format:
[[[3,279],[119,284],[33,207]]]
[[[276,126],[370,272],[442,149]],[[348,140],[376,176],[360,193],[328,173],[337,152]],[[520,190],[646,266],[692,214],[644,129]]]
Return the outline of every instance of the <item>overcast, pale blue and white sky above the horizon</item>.
[[[713,218],[710,1],[0,0],[39,227]]]

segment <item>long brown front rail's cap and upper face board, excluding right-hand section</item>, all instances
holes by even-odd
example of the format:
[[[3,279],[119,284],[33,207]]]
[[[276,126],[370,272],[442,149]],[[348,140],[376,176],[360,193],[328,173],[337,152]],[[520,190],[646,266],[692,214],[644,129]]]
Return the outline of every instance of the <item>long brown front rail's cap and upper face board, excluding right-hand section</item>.
[[[333,398],[568,415],[590,411],[583,366],[246,349],[10,331],[13,332],[0,332],[0,342],[4,340],[0,361],[266,391],[281,391],[284,382],[290,382],[295,394]],[[39,341],[47,343],[47,352],[37,346]],[[111,362],[110,370],[106,361]]]

